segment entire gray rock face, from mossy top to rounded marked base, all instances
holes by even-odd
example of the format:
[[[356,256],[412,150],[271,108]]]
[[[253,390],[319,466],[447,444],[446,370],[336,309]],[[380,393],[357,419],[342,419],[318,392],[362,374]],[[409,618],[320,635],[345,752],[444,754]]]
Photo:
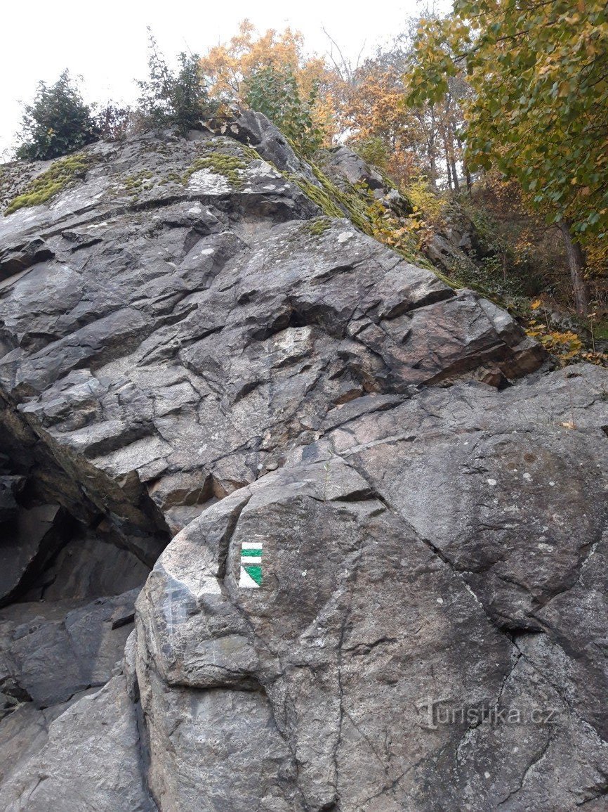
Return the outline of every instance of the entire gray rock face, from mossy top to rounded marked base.
[[[85,155],[0,223],[2,808],[605,808],[606,374],[259,115]]]

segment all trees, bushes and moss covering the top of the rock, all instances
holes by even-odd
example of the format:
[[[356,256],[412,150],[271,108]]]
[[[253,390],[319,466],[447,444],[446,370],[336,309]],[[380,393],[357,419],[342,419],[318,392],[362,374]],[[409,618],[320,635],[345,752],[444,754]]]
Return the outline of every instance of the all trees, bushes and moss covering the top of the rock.
[[[349,218],[427,267],[425,257],[437,256],[445,237],[455,258],[451,266],[442,260],[447,276],[439,275],[452,287],[472,287],[505,305],[547,346],[559,346],[556,336],[563,335],[576,357],[587,344],[592,352],[596,342],[602,348],[608,324],[602,0],[456,0],[443,18],[409,20],[357,65],[337,45],[319,58],[306,54],[298,32],[259,34],[244,22],[202,59],[180,54],[173,70],[151,36],[148,79],[139,89],[135,113],[109,103],[92,114],[67,72],[52,88],[41,84],[26,108],[19,157],[63,154],[99,136],[112,140],[146,128],[230,136],[242,107],[259,110],[313,173],[282,173],[323,213],[303,226],[311,235],[323,235],[328,218]],[[400,198],[393,194],[389,205],[365,184],[332,183],[323,167],[336,144],[379,168]],[[158,140],[142,149],[168,159],[172,151]],[[231,137],[202,140],[199,150],[186,171],[176,165],[161,177],[140,171],[123,188],[136,199],[154,184],[187,184],[208,170],[238,189],[246,166],[260,158]],[[48,201],[83,171],[82,154],[58,162],[6,212]],[[3,186],[5,200],[15,194]],[[570,332],[580,336],[580,352]]]

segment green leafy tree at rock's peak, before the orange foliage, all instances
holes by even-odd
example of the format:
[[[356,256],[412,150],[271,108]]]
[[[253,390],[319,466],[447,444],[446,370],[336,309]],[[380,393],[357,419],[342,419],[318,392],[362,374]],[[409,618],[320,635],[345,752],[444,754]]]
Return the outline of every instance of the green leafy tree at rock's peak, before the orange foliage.
[[[309,156],[323,143],[323,132],[312,118],[316,87],[302,98],[298,80],[289,65],[268,65],[253,73],[244,83],[245,103],[251,110],[268,116],[298,149]]]

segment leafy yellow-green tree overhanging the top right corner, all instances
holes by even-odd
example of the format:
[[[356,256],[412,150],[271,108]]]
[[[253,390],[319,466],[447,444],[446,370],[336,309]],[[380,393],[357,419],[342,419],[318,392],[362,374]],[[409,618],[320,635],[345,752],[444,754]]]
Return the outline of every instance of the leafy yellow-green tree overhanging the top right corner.
[[[416,47],[409,102],[438,100],[466,71],[468,159],[517,179],[560,224],[586,313],[580,243],[608,230],[606,2],[456,0],[451,18],[422,24]]]

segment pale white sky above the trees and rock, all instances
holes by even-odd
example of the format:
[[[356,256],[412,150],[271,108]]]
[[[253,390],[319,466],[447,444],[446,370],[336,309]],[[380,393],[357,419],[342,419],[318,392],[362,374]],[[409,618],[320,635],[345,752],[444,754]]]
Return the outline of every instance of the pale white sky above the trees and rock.
[[[310,51],[323,53],[324,26],[351,58],[400,32],[417,0],[3,0],[0,11],[0,154],[19,127],[19,100],[30,102],[39,80],[52,84],[64,68],[84,78],[88,101],[133,101],[134,79],[147,70],[149,25],[169,62],[182,50],[203,54],[232,37],[249,18],[257,28],[290,25]],[[449,6],[447,2],[441,3]],[[6,159],[6,157],[5,157]]]

